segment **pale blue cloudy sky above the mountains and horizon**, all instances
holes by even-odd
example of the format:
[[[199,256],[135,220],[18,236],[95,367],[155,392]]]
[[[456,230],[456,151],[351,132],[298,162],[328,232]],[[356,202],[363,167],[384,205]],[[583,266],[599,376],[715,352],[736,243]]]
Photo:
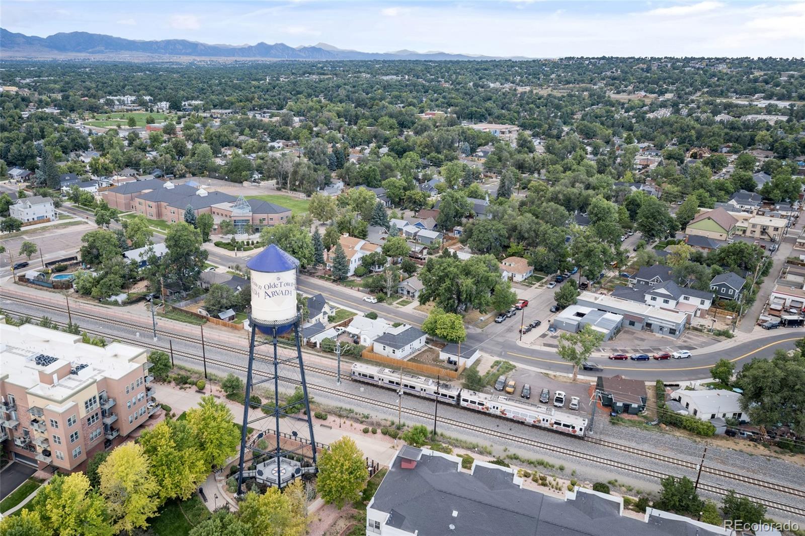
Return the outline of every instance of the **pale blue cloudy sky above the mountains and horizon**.
[[[31,2],[0,25],[204,43],[329,43],[489,56],[805,56],[805,1],[792,2]],[[0,43],[2,44],[2,43]]]

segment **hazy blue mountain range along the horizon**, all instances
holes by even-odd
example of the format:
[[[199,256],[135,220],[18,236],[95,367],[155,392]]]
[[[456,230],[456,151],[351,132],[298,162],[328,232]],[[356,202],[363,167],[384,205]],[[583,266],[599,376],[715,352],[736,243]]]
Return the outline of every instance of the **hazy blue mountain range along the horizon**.
[[[285,43],[255,45],[208,44],[187,39],[140,41],[85,31],[60,32],[47,37],[24,35],[0,28],[0,43],[5,57],[76,57],[76,56],[191,56],[195,58],[227,58],[241,60],[524,60],[471,56],[447,52],[359,52],[333,47],[327,43],[289,47]]]

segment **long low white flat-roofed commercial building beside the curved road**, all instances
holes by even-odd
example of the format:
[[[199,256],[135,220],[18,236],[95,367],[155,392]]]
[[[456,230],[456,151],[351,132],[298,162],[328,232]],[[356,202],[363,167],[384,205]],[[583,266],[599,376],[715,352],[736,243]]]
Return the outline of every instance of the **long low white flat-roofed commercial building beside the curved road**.
[[[622,315],[623,328],[657,333],[675,339],[682,335],[687,324],[687,315],[684,313],[592,292],[582,292],[576,300],[576,305]]]

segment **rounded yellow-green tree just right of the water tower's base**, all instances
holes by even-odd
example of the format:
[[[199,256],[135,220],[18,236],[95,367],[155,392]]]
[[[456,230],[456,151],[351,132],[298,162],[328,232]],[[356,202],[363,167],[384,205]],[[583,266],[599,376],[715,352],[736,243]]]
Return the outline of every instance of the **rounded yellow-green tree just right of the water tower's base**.
[[[361,497],[369,472],[363,452],[347,436],[330,443],[330,449],[319,456],[319,477],[316,489],[328,504],[338,509]]]

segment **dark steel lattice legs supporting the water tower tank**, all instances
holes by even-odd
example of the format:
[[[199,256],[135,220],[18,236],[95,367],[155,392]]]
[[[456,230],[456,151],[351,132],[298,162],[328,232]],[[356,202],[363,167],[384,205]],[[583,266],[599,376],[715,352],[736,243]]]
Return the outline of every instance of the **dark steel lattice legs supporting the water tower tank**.
[[[253,324],[254,326],[254,324]],[[237,480],[237,494],[241,495],[243,492],[243,480],[250,476],[255,476],[255,479],[262,482],[263,484],[268,485],[276,485],[279,488],[282,488],[284,485],[289,484],[291,481],[295,480],[298,476],[302,476],[305,472],[316,472],[316,440],[313,435],[313,423],[312,423],[312,415],[310,412],[310,399],[308,397],[308,386],[305,381],[305,374],[304,374],[304,363],[302,357],[302,346],[301,340],[299,339],[299,320],[293,324],[293,334],[294,334],[294,341],[295,341],[295,355],[293,357],[282,358],[279,355],[279,343],[278,343],[278,328],[270,328],[270,342],[266,340],[266,342],[258,343],[256,340],[258,328],[254,326],[251,330],[250,334],[250,344],[249,344],[249,364],[248,370],[246,373],[246,400],[244,403],[243,409],[243,427],[241,431],[241,456],[240,456],[240,463],[239,463],[239,471],[238,471],[238,480]],[[266,357],[261,357],[255,355],[255,348],[258,346],[262,346],[263,344],[271,344],[272,354],[271,359],[266,359]],[[289,348],[290,349],[290,348]],[[255,370],[255,363],[257,364],[265,364],[268,365],[266,368],[268,370]],[[303,441],[298,441],[298,447],[291,447],[291,448],[283,448],[282,442],[282,435],[280,431],[280,418],[283,416],[288,416],[287,410],[289,406],[296,406],[296,404],[300,402],[296,402],[295,404],[285,406],[280,406],[279,403],[279,384],[280,381],[287,381],[289,383],[295,383],[296,381],[292,378],[283,378],[280,371],[280,365],[293,365],[294,368],[299,368],[299,383],[302,387],[302,394],[303,400],[301,403],[304,405],[305,414],[307,417],[307,424],[308,424],[308,434],[310,436],[310,443],[304,443]],[[259,375],[262,378],[255,380],[254,376]],[[291,380],[291,381],[288,381]],[[252,396],[252,391],[254,386],[258,386],[262,383],[266,383],[269,381],[273,381],[273,389],[274,389],[274,406],[271,408],[270,406],[266,406],[265,404],[261,404],[261,406],[254,406],[259,407],[263,410],[263,413],[266,413],[265,409],[270,409],[270,412],[266,414],[266,416],[261,416],[258,418],[249,419],[249,410],[252,406],[250,404],[250,397]],[[252,439],[250,442],[247,441],[248,436],[248,427],[251,423],[257,423],[259,421],[264,421],[266,418],[269,418],[271,415],[274,416],[274,424],[275,424],[275,444],[271,448],[261,449],[258,447],[258,442],[264,437],[264,432],[259,432],[255,439]],[[292,438],[289,441],[296,441],[296,432],[292,432]],[[303,451],[306,447],[310,447],[311,449],[311,457],[312,457],[312,467],[305,467],[302,468],[299,466],[298,462],[295,460],[291,460],[289,456],[292,455],[301,455],[303,456]],[[254,460],[257,456],[266,455],[268,460],[258,465],[258,468],[254,470],[246,470],[246,462],[250,461],[247,460],[247,451],[252,451],[256,453],[254,456],[251,457]],[[272,469],[269,469],[270,466],[276,464],[275,472]],[[272,474],[274,473],[274,474]],[[275,478],[274,478],[275,477]]]

